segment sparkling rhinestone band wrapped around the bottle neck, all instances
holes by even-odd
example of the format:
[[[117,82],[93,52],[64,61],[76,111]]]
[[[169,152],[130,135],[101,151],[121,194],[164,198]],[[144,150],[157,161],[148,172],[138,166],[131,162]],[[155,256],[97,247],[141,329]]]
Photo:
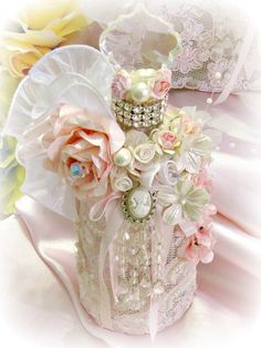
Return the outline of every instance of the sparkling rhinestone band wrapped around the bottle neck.
[[[147,129],[163,120],[167,106],[167,95],[149,105],[135,105],[122,100],[113,100],[116,120],[124,127]]]

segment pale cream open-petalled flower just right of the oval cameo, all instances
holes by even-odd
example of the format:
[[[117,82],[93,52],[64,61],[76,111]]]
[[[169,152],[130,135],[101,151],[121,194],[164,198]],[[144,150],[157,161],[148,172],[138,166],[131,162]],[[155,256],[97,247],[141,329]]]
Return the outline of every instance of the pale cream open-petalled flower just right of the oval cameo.
[[[179,181],[176,186],[164,186],[158,192],[158,202],[165,207],[163,219],[177,225],[182,218],[199,221],[209,195],[203,188],[195,187],[191,181]]]

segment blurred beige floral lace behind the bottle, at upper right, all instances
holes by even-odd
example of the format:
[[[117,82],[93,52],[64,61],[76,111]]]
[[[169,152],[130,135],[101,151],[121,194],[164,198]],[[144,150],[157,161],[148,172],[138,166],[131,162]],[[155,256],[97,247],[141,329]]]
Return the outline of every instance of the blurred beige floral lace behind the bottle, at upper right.
[[[260,35],[248,14],[238,6],[217,0],[138,2],[143,2],[150,13],[171,23],[181,37],[181,51],[170,66],[173,88],[223,92],[219,98],[220,102],[231,92],[261,89]],[[114,13],[106,6],[100,13],[92,6],[88,11],[106,27],[118,14],[129,13],[137,1],[114,3]],[[134,30],[128,40],[119,34],[114,38],[115,43],[114,47],[111,45],[111,50],[116,53],[121,42],[121,51],[125,52],[122,58],[118,57],[121,65],[132,65],[134,53],[136,61],[143,61],[137,52],[143,28],[144,25],[138,25],[138,30]],[[124,27],[122,30],[124,31]]]

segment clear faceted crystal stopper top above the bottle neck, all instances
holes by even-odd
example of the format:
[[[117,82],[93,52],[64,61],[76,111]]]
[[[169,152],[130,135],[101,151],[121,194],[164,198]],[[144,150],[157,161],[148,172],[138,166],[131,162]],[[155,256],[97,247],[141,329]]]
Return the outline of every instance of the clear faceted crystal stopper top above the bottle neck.
[[[169,66],[180,45],[173,25],[150,14],[142,4],[108,24],[100,40],[101,50],[109,61],[129,71]]]

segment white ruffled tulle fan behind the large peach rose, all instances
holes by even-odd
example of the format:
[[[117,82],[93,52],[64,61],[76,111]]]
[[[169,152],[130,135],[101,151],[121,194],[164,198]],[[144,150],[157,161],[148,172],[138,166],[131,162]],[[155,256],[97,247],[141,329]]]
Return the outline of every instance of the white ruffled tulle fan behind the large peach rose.
[[[71,187],[58,174],[44,170],[44,150],[35,131],[32,141],[28,141],[30,127],[46,120],[64,102],[86,108],[101,117],[102,126],[107,125],[114,119],[109,93],[113,74],[113,68],[93,48],[73,45],[54,50],[19,85],[3,131],[19,142],[17,157],[27,167],[22,192],[71,219],[75,218]],[[114,145],[117,146],[112,141]]]

